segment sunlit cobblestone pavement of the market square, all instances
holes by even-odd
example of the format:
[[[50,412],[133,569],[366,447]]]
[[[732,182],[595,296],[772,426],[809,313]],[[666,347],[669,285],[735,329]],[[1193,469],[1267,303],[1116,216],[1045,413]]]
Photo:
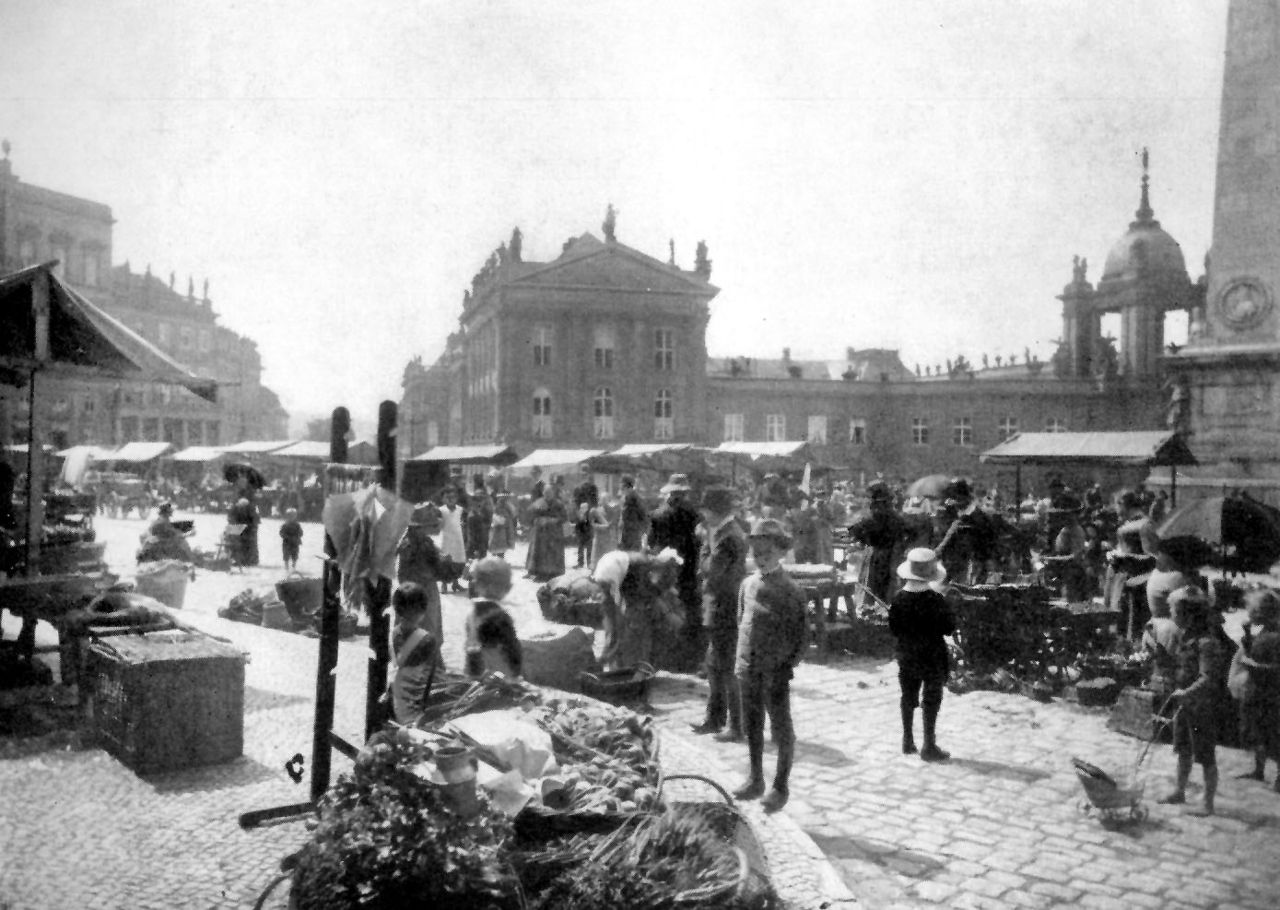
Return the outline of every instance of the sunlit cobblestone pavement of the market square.
[[[196,518],[212,539],[220,521]],[[141,529],[137,521],[100,523],[122,570]],[[307,795],[283,764],[297,751],[310,760],[316,643],[215,616],[232,594],[279,577],[273,534],[273,522],[264,525],[264,558],[274,566],[201,572],[183,611],[251,655],[243,758],[147,778],[97,749],[0,762],[0,907],[248,906],[305,838],[297,823],[253,832],[237,826],[244,810]],[[317,536],[308,526],[303,567]],[[540,623],[532,590],[520,580],[513,594],[521,628]],[[447,596],[444,607],[445,657],[458,666],[466,602]],[[14,634],[12,618],[5,632]],[[335,728],[357,740],[366,653],[358,641],[343,643],[338,669]],[[655,681],[664,767],[732,787],[745,770],[742,746],[687,732],[704,696],[705,683],[694,677]],[[1078,811],[1082,791],[1069,760],[1079,755],[1114,773],[1133,767],[1140,744],[1107,731],[1105,713],[948,694],[940,736],[954,758],[929,765],[899,751],[892,663],[805,663],[792,699],[799,745],[791,802],[772,818],[754,804],[744,808],[795,906],[1276,906],[1280,797],[1270,785],[1235,779],[1251,767],[1242,751],[1219,750],[1219,814],[1203,819],[1155,804],[1172,773],[1169,747],[1156,746],[1143,768],[1149,819],[1110,829]],[[334,756],[335,773],[347,767]],[[1193,804],[1197,782],[1198,770]],[[699,786],[673,785],[680,790],[672,792]]]

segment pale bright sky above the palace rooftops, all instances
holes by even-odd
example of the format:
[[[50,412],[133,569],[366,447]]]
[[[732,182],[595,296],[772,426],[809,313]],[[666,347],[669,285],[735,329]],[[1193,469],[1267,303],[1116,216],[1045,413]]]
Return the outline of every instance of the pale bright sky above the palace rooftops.
[[[1196,278],[1226,0],[0,0],[0,136],[370,425],[518,225],[692,267],[708,349],[1047,358],[1138,205]]]

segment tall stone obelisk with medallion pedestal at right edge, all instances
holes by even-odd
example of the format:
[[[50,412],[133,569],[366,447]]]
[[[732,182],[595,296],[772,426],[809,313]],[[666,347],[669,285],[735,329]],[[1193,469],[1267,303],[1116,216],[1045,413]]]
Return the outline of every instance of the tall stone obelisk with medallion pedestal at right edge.
[[[1193,485],[1280,494],[1280,0],[1230,0],[1204,312],[1166,357]],[[1190,491],[1190,490],[1189,490]]]

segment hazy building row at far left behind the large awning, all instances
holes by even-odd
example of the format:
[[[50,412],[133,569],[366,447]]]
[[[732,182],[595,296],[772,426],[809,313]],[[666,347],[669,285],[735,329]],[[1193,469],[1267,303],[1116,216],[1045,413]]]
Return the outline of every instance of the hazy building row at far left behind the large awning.
[[[0,273],[56,260],[55,273],[78,293],[128,325],[192,372],[219,380],[218,403],[159,383],[50,379],[38,385],[55,447],[133,440],[219,445],[244,439],[283,439],[288,415],[262,385],[257,344],[219,325],[209,284],[197,297],[142,274],[128,262],[111,265],[111,210],[100,202],[23,183],[8,157],[0,160]],[[0,389],[0,395],[5,390]],[[9,390],[10,438],[26,439],[29,401]]]

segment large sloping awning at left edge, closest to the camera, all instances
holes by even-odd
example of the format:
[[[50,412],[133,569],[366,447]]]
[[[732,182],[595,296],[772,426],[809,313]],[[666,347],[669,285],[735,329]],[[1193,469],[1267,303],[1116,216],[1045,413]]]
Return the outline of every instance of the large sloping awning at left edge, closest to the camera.
[[[49,287],[49,349],[37,349],[32,285]],[[0,367],[6,376],[23,370],[84,371],[97,375],[172,383],[206,401],[218,401],[218,384],[195,375],[114,316],[64,284],[52,264],[33,265],[0,278]]]

